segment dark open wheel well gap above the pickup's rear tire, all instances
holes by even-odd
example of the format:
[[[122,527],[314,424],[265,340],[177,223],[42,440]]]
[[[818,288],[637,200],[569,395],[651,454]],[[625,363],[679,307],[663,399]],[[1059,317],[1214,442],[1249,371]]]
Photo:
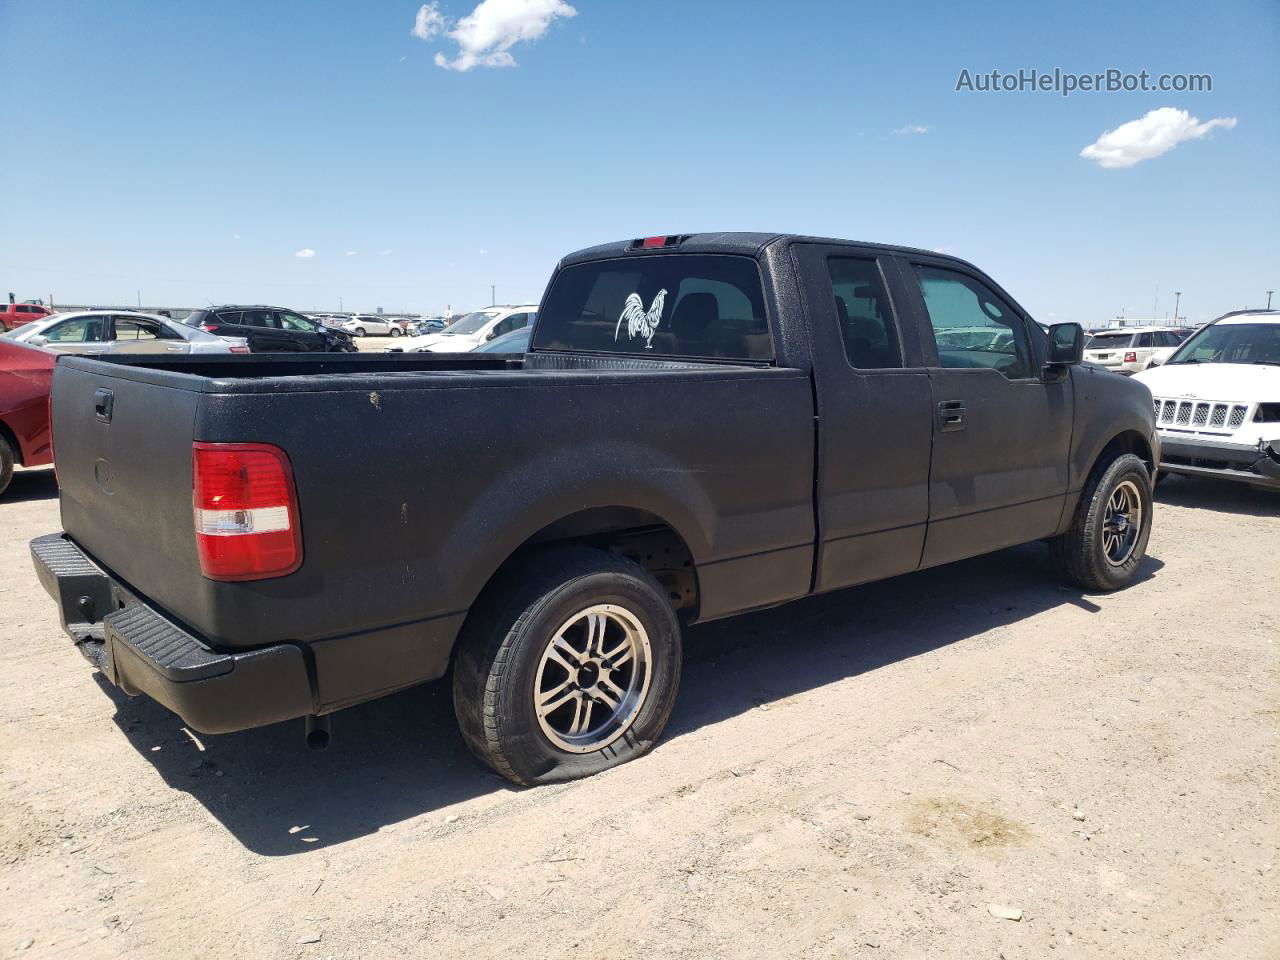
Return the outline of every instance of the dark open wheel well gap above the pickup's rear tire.
[[[695,613],[698,609],[698,571],[689,545],[662,517],[632,507],[584,509],[548,524],[520,545],[490,582],[530,550],[563,544],[626,557],[658,579],[677,611]]]

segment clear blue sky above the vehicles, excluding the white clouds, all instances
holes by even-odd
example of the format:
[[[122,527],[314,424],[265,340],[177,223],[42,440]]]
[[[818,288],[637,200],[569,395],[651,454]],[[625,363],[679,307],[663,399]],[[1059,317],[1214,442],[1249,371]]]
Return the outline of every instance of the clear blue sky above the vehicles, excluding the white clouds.
[[[438,0],[426,41],[421,3],[0,0],[0,294],[434,312],[703,229],[943,250],[1046,321],[1164,315],[1175,289],[1199,320],[1280,288],[1275,0],[527,1],[561,15],[515,65],[458,70],[467,44],[500,59],[458,32],[477,0]],[[955,92],[1020,67],[1213,90]],[[1161,108],[1235,125],[1080,156]]]

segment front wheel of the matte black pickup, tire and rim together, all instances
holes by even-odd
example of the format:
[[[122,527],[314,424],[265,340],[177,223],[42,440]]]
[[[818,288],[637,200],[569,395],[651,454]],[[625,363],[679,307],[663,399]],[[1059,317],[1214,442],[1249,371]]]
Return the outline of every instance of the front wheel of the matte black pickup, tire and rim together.
[[[1146,463],[1132,453],[1094,468],[1070,529],[1050,540],[1064,580],[1094,591],[1133,582],[1151,538],[1151,486]]]

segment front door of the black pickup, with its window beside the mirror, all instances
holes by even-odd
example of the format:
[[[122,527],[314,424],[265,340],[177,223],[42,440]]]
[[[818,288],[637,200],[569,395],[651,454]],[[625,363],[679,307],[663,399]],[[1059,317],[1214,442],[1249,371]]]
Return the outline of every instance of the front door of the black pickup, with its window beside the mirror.
[[[1048,536],[1066,497],[1070,378],[1041,380],[1043,332],[977,270],[924,256],[899,265],[933,392],[923,566]]]

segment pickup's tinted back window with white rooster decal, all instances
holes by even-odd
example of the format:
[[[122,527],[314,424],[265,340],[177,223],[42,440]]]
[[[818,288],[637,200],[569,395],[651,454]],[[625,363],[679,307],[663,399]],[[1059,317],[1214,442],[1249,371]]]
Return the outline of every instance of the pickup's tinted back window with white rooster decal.
[[[637,256],[561,270],[538,311],[534,347],[773,358],[755,261],[713,255]]]

